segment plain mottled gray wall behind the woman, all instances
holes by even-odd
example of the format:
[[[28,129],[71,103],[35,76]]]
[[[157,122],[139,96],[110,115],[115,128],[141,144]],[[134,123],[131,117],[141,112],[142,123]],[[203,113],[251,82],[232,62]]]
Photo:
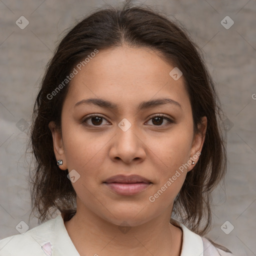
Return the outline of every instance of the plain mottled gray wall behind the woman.
[[[226,115],[228,171],[214,192],[213,226],[207,236],[237,256],[256,255],[256,1],[144,3],[178,19],[203,50]],[[26,125],[31,123],[45,65],[62,31],[103,4],[101,0],[0,0],[0,239],[19,233],[15,226],[20,221],[29,228],[37,225],[36,218],[28,221],[30,160],[24,152]],[[21,15],[29,21],[24,29],[15,24]],[[234,21],[229,29],[220,23],[227,15]],[[229,234],[220,228],[225,221],[230,222],[225,231],[234,226]]]

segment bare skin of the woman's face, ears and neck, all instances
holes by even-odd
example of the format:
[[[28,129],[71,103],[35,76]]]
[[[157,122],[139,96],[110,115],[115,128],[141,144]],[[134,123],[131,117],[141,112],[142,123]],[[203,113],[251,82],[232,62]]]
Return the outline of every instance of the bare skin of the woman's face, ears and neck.
[[[182,246],[182,230],[169,223],[173,200],[190,164],[168,188],[154,195],[183,163],[201,151],[207,119],[193,132],[192,110],[184,78],[174,80],[174,67],[149,48],[122,45],[100,50],[72,78],[61,112],[62,134],[49,123],[56,160],[62,170],[75,169],[80,177],[72,183],[77,212],[64,222],[80,255],[172,255]],[[93,104],[74,104],[82,99],[102,98],[116,109]],[[138,110],[141,101],[170,98],[163,104]],[[82,121],[89,114],[101,115]],[[164,114],[174,120],[152,117]],[[123,131],[118,123],[126,118],[131,126]],[[94,126],[93,126],[94,125]],[[198,160],[194,159],[196,164]],[[138,174],[152,184],[135,195],[120,195],[103,181],[116,174]],[[127,232],[118,227],[126,221]]]

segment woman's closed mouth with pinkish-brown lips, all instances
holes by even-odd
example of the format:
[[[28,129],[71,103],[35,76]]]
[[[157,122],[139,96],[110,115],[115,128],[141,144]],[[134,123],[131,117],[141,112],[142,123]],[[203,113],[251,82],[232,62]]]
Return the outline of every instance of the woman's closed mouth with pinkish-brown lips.
[[[103,182],[109,189],[121,195],[134,195],[144,191],[152,182],[139,175],[115,175]]]

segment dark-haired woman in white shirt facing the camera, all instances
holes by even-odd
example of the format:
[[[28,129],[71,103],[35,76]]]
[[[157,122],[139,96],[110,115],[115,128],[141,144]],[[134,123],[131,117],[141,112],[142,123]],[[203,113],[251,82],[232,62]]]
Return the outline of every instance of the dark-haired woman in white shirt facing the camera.
[[[178,24],[129,1],[90,14],[59,43],[33,114],[33,211],[61,214],[0,255],[233,255],[204,237],[226,167],[221,109]]]

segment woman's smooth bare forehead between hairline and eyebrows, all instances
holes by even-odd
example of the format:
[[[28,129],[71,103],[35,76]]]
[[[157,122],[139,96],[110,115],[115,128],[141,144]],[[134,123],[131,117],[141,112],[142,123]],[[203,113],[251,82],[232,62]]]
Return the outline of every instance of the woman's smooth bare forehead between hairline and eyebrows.
[[[184,79],[174,80],[169,75],[173,68],[150,48],[123,45],[99,50],[80,70],[76,68],[67,101],[99,97],[122,105],[170,96],[184,103],[188,100]]]

